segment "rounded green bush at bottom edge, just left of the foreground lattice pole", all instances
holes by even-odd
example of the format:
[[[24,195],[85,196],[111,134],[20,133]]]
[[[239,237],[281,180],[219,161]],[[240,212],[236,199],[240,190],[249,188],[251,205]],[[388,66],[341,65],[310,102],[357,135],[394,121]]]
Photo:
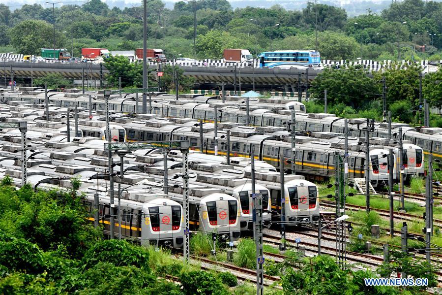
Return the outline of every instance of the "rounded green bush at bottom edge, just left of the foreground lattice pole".
[[[222,282],[206,271],[183,272],[181,286],[187,295],[227,295]]]

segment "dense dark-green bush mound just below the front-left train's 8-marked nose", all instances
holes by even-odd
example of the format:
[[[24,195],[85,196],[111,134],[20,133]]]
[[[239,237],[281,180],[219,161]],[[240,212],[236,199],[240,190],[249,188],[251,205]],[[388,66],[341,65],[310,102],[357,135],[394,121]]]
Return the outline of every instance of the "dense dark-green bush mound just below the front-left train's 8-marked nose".
[[[85,268],[90,268],[98,262],[108,262],[116,266],[133,265],[149,271],[149,254],[146,249],[124,240],[104,240],[93,245],[86,252],[83,264]]]

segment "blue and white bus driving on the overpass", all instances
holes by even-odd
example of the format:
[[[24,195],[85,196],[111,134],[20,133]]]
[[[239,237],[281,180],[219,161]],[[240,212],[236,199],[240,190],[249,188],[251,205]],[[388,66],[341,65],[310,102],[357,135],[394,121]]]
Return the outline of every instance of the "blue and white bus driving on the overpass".
[[[276,50],[258,55],[260,67],[320,67],[321,57],[315,50]]]

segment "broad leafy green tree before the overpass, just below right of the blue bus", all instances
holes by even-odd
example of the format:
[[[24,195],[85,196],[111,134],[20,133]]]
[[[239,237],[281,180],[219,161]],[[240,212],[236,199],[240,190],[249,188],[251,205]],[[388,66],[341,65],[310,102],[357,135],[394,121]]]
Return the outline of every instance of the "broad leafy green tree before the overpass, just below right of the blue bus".
[[[329,103],[344,103],[355,109],[379,98],[376,81],[368,77],[365,70],[353,66],[348,69],[324,69],[313,80],[310,92],[314,98],[323,98],[325,89]]]

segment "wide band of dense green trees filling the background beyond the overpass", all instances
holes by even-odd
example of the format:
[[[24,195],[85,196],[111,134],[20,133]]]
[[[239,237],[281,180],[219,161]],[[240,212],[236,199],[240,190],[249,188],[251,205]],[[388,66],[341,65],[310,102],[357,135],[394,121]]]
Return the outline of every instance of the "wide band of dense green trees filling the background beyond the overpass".
[[[315,7],[308,2],[301,10],[286,10],[279,5],[234,10],[227,0],[200,1],[195,4],[195,48],[191,1],[175,2],[173,9],[166,8],[160,0],[147,2],[148,47],[163,48],[171,58],[181,54],[218,59],[226,47],[247,48],[253,54],[269,49],[314,49],[316,28],[317,47],[325,59],[395,60],[398,47],[405,59],[441,59],[438,48],[442,46],[442,3],[439,1],[393,1],[378,14],[367,9],[365,14],[355,17],[348,16],[353,11],[348,13],[323,3]],[[109,50],[142,47],[141,2],[139,6],[124,9],[111,8],[101,0],[82,5],[59,4],[55,16],[56,46],[71,49],[73,42],[74,56],[79,56],[81,47]],[[8,8],[0,4],[0,46],[5,46],[4,51],[23,54],[36,54],[41,47],[51,48],[52,23],[52,5]],[[419,46],[424,44],[425,52],[421,52]]]

